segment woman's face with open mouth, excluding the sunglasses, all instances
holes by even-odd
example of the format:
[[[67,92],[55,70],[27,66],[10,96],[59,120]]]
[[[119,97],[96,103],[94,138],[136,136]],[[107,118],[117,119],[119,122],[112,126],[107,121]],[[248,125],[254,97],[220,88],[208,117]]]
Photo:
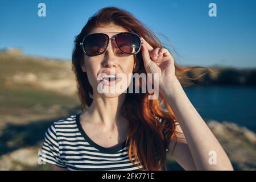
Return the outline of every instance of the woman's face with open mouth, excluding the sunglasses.
[[[115,34],[109,34],[109,32],[127,32],[127,30],[115,24],[109,24],[108,26],[93,28],[89,34],[104,33],[109,38],[114,38]],[[90,85],[93,88],[93,97],[113,98],[125,92],[130,85],[131,73],[133,73],[135,67],[135,69],[138,68],[138,64],[135,64],[134,61],[134,55],[122,54],[114,39],[109,40],[106,51],[101,55],[85,55],[82,71],[87,73]],[[109,82],[106,76],[112,77],[110,75],[115,74],[119,77],[118,80]]]

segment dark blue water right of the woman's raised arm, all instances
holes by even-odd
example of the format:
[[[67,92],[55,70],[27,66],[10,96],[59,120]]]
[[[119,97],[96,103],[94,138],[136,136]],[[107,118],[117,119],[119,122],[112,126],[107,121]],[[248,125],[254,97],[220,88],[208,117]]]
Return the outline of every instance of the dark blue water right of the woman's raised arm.
[[[256,87],[205,86],[184,90],[201,117],[234,122],[256,132]]]

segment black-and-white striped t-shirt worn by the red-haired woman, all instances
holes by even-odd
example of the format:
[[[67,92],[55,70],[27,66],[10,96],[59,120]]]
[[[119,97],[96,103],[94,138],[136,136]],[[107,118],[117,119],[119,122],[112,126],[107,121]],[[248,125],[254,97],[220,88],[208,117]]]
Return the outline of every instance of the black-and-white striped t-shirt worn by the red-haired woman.
[[[127,154],[126,143],[105,148],[94,143],[81,127],[80,114],[52,123],[39,158],[68,170],[141,170]]]

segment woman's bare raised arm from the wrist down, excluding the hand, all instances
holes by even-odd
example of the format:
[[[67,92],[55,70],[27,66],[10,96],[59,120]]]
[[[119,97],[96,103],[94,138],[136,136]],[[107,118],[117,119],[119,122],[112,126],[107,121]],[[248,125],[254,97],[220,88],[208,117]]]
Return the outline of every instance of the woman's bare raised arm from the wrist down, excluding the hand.
[[[189,101],[179,80],[174,78],[171,84],[160,92],[172,107],[186,140],[178,140],[173,158],[185,169],[233,170],[226,152]],[[170,149],[174,147],[174,142],[170,142]],[[209,163],[210,154],[216,154],[216,164]]]

